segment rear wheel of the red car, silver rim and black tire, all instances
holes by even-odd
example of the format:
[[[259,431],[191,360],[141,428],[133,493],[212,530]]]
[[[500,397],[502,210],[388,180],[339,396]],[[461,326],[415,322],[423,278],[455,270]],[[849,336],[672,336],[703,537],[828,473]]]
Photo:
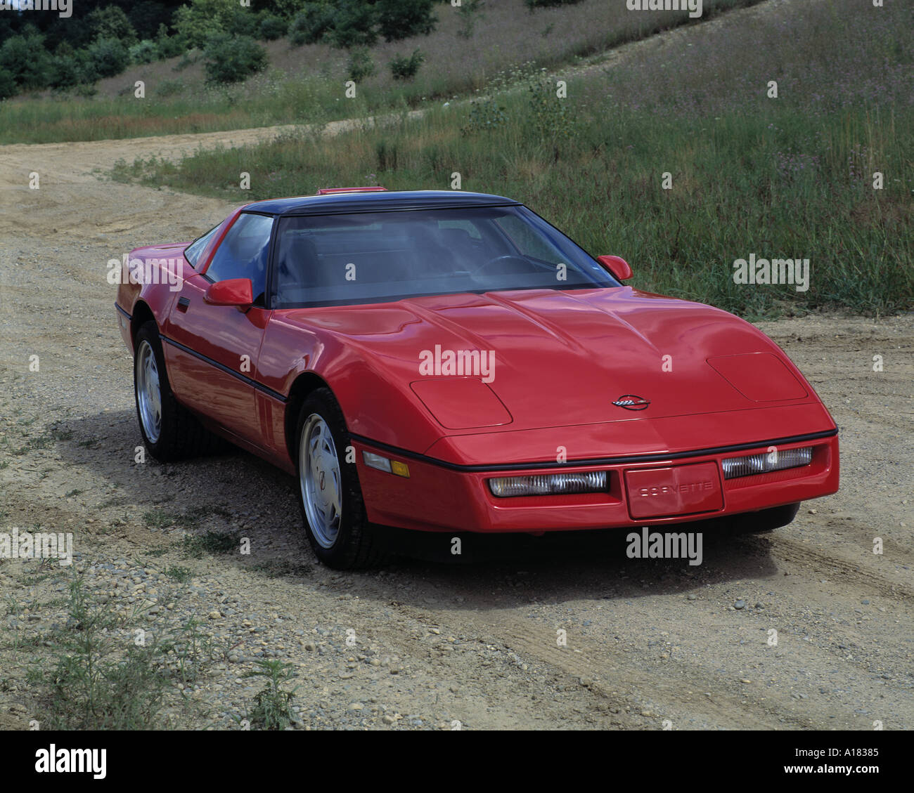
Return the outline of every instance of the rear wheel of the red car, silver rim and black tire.
[[[136,333],[133,354],[133,397],[136,417],[149,453],[160,462],[184,460],[228,447],[178,404],[168,375],[155,322],[144,322]]]

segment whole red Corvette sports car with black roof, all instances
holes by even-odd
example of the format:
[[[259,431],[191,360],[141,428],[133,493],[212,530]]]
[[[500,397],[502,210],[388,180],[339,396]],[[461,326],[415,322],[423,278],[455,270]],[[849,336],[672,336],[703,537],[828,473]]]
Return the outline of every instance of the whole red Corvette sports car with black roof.
[[[115,303],[146,448],[227,439],[292,474],[329,566],[397,529],[767,531],[838,489],[834,420],[777,344],[509,198],[325,189],[130,261],[175,269]]]

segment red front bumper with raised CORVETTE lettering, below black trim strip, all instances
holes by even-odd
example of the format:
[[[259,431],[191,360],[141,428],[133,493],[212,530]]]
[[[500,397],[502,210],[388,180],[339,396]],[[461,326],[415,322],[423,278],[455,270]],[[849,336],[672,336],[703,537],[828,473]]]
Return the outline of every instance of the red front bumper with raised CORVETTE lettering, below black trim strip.
[[[536,471],[519,471],[515,466],[501,471],[478,471],[474,470],[478,466],[456,466],[409,452],[398,454],[396,450],[372,444],[367,439],[354,439],[354,445],[367,516],[373,523],[421,531],[544,532],[685,523],[756,512],[829,495],[838,489],[838,439],[836,434],[823,437],[824,434],[813,433],[790,442],[780,441],[777,445],[779,450],[813,447],[809,465],[730,480],[724,479],[721,460],[764,453],[771,448],[771,441],[755,445],[742,443],[739,447],[694,454],[677,452],[665,458],[642,455],[629,459],[632,461],[601,465],[569,462],[548,468],[537,467]],[[362,461],[363,450],[405,462],[409,466],[409,478],[368,468]],[[716,473],[714,489],[719,498],[685,499],[684,508],[696,508],[697,512],[643,517],[652,514],[652,507],[645,506],[643,501],[644,496],[652,492],[652,478],[656,477],[658,482],[670,481],[669,471],[675,471],[675,480],[675,476],[685,470],[684,466],[699,466],[691,471],[700,471],[701,479],[705,481],[711,481]],[[571,471],[607,471],[606,491],[498,498],[487,485],[487,480],[497,476]]]

